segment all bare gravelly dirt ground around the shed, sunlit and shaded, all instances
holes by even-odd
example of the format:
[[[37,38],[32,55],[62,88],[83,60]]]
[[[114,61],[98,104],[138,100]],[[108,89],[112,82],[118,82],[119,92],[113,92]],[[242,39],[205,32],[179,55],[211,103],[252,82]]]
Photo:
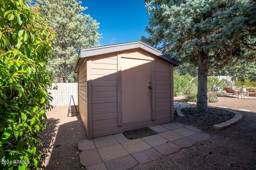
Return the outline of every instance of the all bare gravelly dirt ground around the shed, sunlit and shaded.
[[[184,102],[184,96],[175,101]],[[219,97],[218,103],[209,105],[250,112],[241,112],[242,120],[226,130],[208,131],[208,141],[133,169],[256,169],[256,100]],[[86,138],[84,126],[79,116],[67,117],[67,112],[68,107],[55,107],[47,114],[42,169],[84,169],[77,149],[78,141]]]

